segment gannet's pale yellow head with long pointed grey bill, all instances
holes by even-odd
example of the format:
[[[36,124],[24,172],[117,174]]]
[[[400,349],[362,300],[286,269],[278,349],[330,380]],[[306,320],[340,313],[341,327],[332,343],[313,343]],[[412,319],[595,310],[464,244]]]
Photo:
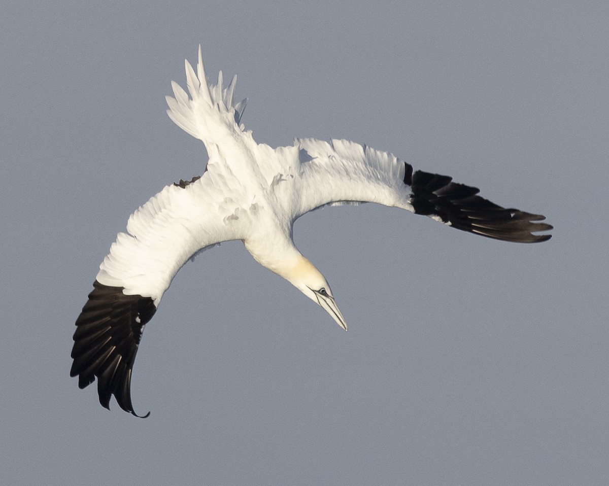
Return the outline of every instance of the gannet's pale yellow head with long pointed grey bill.
[[[285,275],[285,278],[312,301],[319,304],[340,327],[347,331],[347,323],[334,301],[328,281],[308,259],[301,257],[298,263]]]

